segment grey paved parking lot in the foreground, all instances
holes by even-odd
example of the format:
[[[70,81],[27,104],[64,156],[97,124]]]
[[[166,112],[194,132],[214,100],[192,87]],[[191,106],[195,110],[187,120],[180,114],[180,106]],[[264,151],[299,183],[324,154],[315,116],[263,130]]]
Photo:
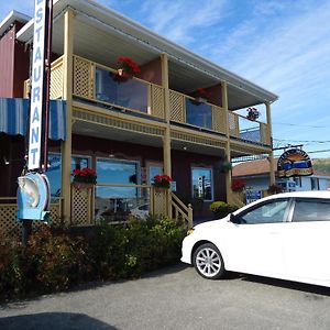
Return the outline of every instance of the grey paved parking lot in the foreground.
[[[0,307],[0,329],[330,329],[330,289],[176,265]]]

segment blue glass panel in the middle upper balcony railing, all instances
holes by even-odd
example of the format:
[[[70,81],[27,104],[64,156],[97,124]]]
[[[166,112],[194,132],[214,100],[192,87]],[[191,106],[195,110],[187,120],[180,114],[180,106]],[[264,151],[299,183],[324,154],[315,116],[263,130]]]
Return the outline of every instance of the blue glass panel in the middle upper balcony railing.
[[[195,105],[190,99],[186,99],[187,123],[205,129],[212,129],[212,108],[210,105]]]

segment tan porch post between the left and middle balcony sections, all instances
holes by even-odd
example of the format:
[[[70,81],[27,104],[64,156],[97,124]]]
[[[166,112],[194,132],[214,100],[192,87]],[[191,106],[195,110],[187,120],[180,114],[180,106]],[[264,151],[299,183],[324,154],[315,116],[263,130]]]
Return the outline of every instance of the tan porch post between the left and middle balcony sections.
[[[169,89],[168,89],[168,58],[166,54],[161,54],[162,61],[162,85],[164,88],[164,110],[166,129],[163,136],[163,158],[164,173],[172,177],[172,158],[170,158],[170,107],[169,107]],[[172,197],[167,195],[167,216],[172,217]]]

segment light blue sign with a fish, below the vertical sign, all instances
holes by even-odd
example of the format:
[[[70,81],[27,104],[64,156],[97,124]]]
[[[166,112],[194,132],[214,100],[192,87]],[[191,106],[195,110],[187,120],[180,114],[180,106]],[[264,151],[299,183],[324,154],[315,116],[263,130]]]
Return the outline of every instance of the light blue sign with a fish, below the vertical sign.
[[[43,220],[50,218],[50,182],[44,174],[28,173],[20,176],[18,189],[18,220]]]

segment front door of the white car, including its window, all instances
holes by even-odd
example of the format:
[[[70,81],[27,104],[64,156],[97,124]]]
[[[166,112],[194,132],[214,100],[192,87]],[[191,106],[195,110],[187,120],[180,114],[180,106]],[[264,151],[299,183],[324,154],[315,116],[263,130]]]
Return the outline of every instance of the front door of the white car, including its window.
[[[285,272],[283,227],[289,199],[274,199],[246,209],[234,217],[228,240],[228,264],[232,271],[264,276]]]

